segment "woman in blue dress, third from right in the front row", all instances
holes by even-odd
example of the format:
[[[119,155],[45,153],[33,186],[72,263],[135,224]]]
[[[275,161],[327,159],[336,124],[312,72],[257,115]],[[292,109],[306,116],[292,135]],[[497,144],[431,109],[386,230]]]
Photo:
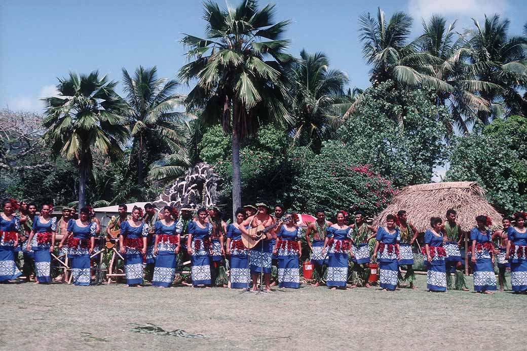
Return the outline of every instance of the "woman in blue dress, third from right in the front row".
[[[441,231],[443,220],[439,217],[430,218],[431,229],[425,232],[425,247],[422,253],[425,256],[426,287],[428,291],[446,291],[446,264],[447,253],[444,245],[444,235]]]

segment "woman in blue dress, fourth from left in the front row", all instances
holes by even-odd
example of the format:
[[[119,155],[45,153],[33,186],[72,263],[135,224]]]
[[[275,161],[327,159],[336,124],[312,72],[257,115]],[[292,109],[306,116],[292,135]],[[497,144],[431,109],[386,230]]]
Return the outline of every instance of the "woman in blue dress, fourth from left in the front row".
[[[132,219],[121,223],[120,251],[124,254],[124,273],[129,287],[143,284],[143,256],[147,253],[148,224],[141,220],[142,210],[134,206]]]

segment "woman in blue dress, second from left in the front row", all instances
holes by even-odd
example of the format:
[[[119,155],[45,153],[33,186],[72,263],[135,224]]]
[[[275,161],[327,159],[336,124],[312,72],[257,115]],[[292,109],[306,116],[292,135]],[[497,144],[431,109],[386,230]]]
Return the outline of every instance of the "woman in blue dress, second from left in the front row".
[[[51,270],[51,252],[55,247],[57,218],[50,217],[50,206],[45,204],[40,210],[40,216],[33,219],[33,229],[27,239],[26,251],[34,251],[35,276],[39,283],[49,283]],[[32,240],[35,238],[35,240]]]

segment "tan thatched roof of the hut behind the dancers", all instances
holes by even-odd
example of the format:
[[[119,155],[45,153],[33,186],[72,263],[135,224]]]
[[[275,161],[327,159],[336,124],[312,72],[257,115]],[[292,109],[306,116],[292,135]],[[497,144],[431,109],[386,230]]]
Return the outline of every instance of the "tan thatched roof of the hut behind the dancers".
[[[457,212],[457,222],[463,231],[475,226],[475,217],[484,214],[492,219],[492,229],[501,228],[502,216],[485,199],[485,191],[476,182],[444,182],[409,186],[395,194],[392,203],[375,218],[373,225],[385,226],[386,216],[406,210],[408,221],[419,232],[430,228],[430,217],[443,220],[446,211]]]

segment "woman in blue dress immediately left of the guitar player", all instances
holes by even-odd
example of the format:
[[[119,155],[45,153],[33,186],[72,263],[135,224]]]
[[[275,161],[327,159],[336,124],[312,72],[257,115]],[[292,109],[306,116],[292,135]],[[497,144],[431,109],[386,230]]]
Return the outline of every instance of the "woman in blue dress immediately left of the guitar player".
[[[245,220],[245,212],[241,208],[236,210],[236,223],[227,226],[227,256],[229,261],[229,281],[231,289],[248,288],[251,281],[249,270],[248,249],[241,241],[239,227]]]

